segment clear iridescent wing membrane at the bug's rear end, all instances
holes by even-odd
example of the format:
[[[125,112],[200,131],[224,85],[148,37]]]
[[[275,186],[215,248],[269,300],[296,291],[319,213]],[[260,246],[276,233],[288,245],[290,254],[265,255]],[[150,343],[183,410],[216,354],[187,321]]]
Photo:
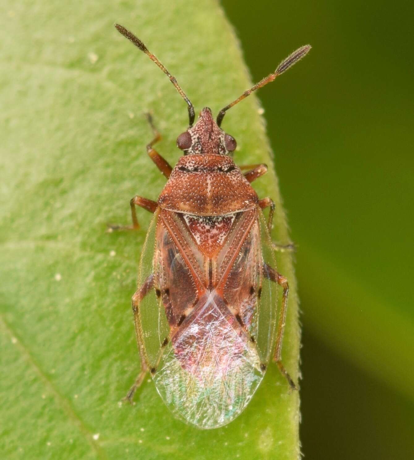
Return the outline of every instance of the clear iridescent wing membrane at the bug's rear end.
[[[262,380],[256,348],[242,337],[212,291],[183,324],[154,376],[161,397],[181,419],[202,428],[240,414]]]

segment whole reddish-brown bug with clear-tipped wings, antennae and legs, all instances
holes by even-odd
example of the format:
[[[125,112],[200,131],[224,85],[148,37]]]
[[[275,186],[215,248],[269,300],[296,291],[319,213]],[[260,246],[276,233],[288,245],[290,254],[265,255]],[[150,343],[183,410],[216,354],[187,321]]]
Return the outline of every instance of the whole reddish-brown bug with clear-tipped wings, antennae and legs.
[[[273,81],[311,46],[293,52],[226,105],[217,121],[205,107],[193,126],[193,104],[176,79],[141,40],[115,27],[167,74],[189,113],[189,127],[177,138],[184,155],[174,168],[153,148],[160,134],[149,116],[155,137],[147,152],[167,184],[157,202],[132,198],[131,227],[110,227],[138,229],[136,206],[154,213],[132,297],[141,372],[127,399],[150,372],[174,414],[199,428],[216,428],[242,412],[263,379],[275,343],[277,285],[283,294],[273,360],[296,388],[281,361],[289,287],[276,270],[278,247],[270,240],[275,204],[269,197],[260,200],[250,185],[267,167],[249,166],[242,174],[231,158],[236,140],[220,125],[230,107]]]

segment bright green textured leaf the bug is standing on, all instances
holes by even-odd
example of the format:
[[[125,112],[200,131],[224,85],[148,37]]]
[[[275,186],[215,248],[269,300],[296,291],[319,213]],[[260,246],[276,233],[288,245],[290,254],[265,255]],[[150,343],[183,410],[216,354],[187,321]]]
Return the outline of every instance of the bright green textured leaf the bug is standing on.
[[[93,5],[93,6],[92,6]],[[114,29],[138,34],[197,109],[217,113],[251,82],[213,0],[14,2],[1,28],[0,380],[2,457],[297,459],[299,395],[275,366],[243,414],[201,431],[175,420],[151,382],[119,401],[139,371],[130,299],[150,216],[136,233],[129,199],[155,200],[165,180],[145,153],[150,110],[172,164],[187,110],[168,79]],[[284,56],[280,56],[282,58]],[[275,62],[276,65],[276,62]],[[288,230],[255,96],[224,129],[238,164],[265,162],[259,196],[276,201],[274,238]],[[298,379],[300,330],[292,259],[283,360]]]

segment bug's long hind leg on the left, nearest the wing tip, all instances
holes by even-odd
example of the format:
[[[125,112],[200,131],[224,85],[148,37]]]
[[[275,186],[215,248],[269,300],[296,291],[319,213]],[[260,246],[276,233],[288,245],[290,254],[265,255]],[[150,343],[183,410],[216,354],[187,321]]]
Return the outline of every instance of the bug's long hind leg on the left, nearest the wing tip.
[[[135,392],[144,381],[147,372],[150,370],[150,366],[147,362],[147,355],[145,352],[144,339],[142,337],[138,308],[142,299],[144,299],[144,297],[150,292],[150,290],[153,287],[154,273],[148,276],[141,288],[137,289],[136,293],[132,296],[132,312],[134,314],[135,333],[137,335],[139,357],[141,358],[141,372],[138,374],[138,377],[136,378],[134,384],[129,389],[127,396],[124,398],[124,400],[127,400],[130,403],[132,403],[132,398],[134,397]]]

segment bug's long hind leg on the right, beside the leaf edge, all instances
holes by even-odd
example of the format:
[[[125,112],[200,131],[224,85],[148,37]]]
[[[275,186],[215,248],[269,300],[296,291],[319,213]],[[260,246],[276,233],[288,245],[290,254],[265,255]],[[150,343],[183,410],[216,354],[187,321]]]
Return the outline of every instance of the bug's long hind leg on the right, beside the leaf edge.
[[[273,355],[273,361],[276,362],[277,367],[285,376],[286,380],[288,380],[291,390],[297,390],[295,383],[293,382],[291,376],[288,374],[288,371],[284,368],[282,363],[282,341],[283,333],[285,331],[286,313],[288,311],[288,280],[285,278],[285,276],[281,275],[279,272],[277,272],[275,269],[273,269],[267,264],[263,266],[263,275],[271,281],[276,282],[277,284],[279,284],[279,286],[282,286],[283,288],[282,308],[280,311],[279,322],[277,323],[276,348],[275,354]]]

